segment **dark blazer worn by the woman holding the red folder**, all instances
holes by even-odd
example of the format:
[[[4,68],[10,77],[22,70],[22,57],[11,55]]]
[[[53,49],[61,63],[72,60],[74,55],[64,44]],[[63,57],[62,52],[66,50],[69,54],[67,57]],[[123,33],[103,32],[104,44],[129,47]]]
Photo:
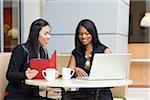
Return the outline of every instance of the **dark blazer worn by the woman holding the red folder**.
[[[23,46],[28,52],[23,48]],[[27,59],[29,57],[29,59]],[[29,67],[28,60],[37,58],[29,43],[18,45],[12,51],[9,62],[9,67],[6,73],[7,80],[9,81],[6,91],[9,93],[23,93],[27,95],[37,95],[38,87],[29,86],[24,83],[26,78],[25,71]],[[40,58],[48,59],[48,53],[45,48],[40,47]]]

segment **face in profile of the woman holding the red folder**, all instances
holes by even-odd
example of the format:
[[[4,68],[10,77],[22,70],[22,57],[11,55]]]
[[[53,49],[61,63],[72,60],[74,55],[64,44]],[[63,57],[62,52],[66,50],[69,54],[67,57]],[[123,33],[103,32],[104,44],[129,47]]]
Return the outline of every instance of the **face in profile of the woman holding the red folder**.
[[[47,45],[50,35],[51,35],[50,26],[48,26],[48,25],[44,26],[39,32],[39,37],[38,37],[39,44],[41,46]]]

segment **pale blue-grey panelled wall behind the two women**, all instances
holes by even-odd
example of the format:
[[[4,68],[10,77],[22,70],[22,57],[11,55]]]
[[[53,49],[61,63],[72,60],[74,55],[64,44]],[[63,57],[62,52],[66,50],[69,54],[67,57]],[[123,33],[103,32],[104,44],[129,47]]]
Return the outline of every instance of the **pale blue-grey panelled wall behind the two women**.
[[[76,26],[84,18],[95,22],[101,42],[112,52],[127,52],[129,0],[45,0],[44,7],[53,33],[49,53],[71,52]]]

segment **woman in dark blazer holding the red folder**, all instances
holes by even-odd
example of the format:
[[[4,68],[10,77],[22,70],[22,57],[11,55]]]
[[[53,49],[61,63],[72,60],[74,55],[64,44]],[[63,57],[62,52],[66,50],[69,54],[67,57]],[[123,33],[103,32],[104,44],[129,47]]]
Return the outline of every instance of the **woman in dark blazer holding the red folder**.
[[[46,48],[51,35],[51,27],[43,19],[35,20],[30,27],[29,37],[26,43],[14,48],[7,70],[9,81],[4,100],[43,100],[39,96],[39,87],[25,84],[25,79],[32,79],[37,70],[29,68],[29,60],[32,58],[48,59]]]

